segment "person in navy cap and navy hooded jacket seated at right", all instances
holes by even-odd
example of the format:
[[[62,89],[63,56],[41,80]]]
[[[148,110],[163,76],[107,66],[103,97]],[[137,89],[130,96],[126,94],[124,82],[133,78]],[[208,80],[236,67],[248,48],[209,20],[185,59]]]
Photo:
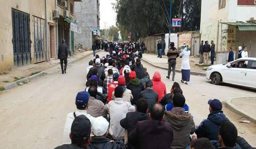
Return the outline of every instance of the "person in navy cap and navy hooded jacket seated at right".
[[[201,124],[195,129],[197,138],[208,138],[209,140],[218,140],[219,128],[221,123],[228,118],[224,115],[222,103],[218,99],[208,101],[209,112],[207,119],[203,120]]]

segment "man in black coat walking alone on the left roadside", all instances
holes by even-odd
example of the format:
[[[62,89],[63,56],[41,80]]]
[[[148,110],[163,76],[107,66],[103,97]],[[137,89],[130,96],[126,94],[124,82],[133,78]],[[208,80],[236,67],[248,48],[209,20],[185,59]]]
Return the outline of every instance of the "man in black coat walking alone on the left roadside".
[[[61,72],[62,74],[66,73],[67,70],[67,56],[68,56],[68,48],[65,44],[65,40],[61,41],[61,44],[58,47],[58,59],[61,60]],[[63,62],[64,62],[64,70],[63,70]]]

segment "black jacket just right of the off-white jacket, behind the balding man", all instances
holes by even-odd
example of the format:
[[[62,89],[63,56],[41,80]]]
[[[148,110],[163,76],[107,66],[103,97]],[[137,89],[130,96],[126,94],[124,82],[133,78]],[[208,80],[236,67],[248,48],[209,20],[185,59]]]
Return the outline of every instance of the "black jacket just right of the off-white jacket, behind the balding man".
[[[129,133],[135,129],[136,124],[138,121],[142,121],[142,120],[148,120],[149,119],[149,115],[148,113],[142,113],[142,112],[128,112],[126,114],[126,117],[123,118],[122,120],[120,120],[120,125],[122,126],[122,128],[126,129]]]

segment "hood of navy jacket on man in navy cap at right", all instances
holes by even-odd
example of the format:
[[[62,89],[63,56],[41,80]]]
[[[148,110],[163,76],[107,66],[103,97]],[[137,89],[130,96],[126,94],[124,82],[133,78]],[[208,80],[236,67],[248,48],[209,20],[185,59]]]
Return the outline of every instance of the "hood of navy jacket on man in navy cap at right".
[[[228,120],[223,111],[214,111],[208,115],[207,119],[212,123],[216,123],[217,125],[221,125],[224,120]]]

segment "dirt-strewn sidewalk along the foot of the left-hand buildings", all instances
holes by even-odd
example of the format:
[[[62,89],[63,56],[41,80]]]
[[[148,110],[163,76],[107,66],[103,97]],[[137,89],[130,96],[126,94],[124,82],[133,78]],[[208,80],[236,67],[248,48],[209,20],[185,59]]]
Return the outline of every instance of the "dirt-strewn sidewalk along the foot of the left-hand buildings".
[[[73,57],[68,57],[67,61],[70,62],[71,60],[76,60],[79,57],[83,57],[84,55],[89,54],[90,52],[92,51],[78,52],[77,55],[75,53]],[[9,71],[4,72],[3,74],[0,74],[0,87],[8,83],[23,79],[25,77],[38,74],[44,70],[60,65],[59,63],[59,60],[52,59],[49,62],[42,62],[13,68]]]

